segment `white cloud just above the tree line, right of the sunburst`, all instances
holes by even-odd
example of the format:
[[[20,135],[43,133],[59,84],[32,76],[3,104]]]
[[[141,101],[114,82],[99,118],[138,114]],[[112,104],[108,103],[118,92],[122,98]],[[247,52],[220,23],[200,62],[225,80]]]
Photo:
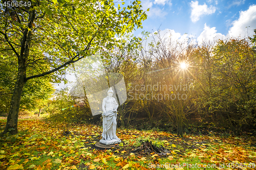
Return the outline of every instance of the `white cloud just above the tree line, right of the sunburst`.
[[[217,30],[215,27],[208,27],[206,23],[204,24],[204,31],[199,35],[197,38],[197,41],[199,43],[202,43],[203,41],[214,41],[218,39],[225,39],[225,35],[221,33],[217,33]]]

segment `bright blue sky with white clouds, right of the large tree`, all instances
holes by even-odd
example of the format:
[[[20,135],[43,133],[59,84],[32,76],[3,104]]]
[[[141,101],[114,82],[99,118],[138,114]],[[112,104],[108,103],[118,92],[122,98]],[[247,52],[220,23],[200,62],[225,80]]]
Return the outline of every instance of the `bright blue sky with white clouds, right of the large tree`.
[[[123,1],[130,3],[130,1]],[[172,1],[141,0],[147,19],[142,22],[143,29],[133,32],[162,33],[170,31],[172,35],[182,36],[187,33],[198,41],[202,39],[247,37],[256,29],[256,2],[249,0],[207,0],[207,1]]]

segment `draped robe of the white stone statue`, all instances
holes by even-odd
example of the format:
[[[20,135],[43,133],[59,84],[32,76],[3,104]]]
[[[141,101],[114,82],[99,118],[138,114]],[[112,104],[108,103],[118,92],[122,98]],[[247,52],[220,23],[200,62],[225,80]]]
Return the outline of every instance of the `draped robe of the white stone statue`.
[[[112,107],[106,108],[106,115],[102,115],[103,117],[103,132],[102,139],[103,140],[112,140],[116,135],[113,132],[113,125],[116,125],[117,113],[114,112],[114,108],[118,106],[115,98],[107,97],[107,100],[111,99]]]

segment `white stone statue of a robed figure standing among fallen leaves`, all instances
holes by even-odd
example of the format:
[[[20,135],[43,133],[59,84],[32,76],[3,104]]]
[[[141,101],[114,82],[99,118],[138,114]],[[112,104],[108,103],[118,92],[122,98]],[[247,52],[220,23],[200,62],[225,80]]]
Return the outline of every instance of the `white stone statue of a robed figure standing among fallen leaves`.
[[[115,98],[112,97],[113,90],[110,87],[108,96],[102,102],[102,117],[103,117],[103,132],[100,143],[111,145],[120,143],[121,140],[116,136],[116,118],[118,104]]]

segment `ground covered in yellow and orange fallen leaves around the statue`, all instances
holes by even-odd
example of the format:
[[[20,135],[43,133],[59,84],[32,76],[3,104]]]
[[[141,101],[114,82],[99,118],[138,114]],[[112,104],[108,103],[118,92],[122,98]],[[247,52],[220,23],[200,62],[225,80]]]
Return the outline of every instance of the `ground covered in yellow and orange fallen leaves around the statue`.
[[[6,120],[0,119],[1,132]],[[0,138],[0,169],[255,169],[254,136],[223,138],[117,129],[122,142],[98,150],[102,128],[19,120],[19,134]],[[67,130],[67,129],[66,129]],[[134,152],[145,141],[162,153]]]

